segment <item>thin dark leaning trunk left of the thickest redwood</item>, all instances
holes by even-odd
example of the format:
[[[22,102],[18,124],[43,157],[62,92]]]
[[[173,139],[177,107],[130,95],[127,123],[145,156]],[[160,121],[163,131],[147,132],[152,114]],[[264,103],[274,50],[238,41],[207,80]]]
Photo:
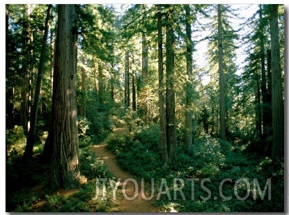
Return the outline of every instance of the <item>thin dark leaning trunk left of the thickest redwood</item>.
[[[31,108],[30,129],[29,129],[25,153],[24,153],[24,157],[26,159],[31,159],[33,155],[34,136],[36,132],[36,123],[37,123],[37,115],[38,115],[38,107],[39,107],[39,99],[40,99],[40,88],[41,88],[42,74],[43,74],[44,64],[45,64],[46,43],[47,43],[47,36],[48,36],[48,31],[49,31],[49,19],[50,19],[51,12],[52,12],[52,4],[49,4],[48,9],[47,9],[47,16],[45,20],[45,31],[44,31],[43,40],[42,40],[42,49],[41,49],[40,60],[39,60],[39,65],[38,65],[36,89],[34,93],[33,106]]]

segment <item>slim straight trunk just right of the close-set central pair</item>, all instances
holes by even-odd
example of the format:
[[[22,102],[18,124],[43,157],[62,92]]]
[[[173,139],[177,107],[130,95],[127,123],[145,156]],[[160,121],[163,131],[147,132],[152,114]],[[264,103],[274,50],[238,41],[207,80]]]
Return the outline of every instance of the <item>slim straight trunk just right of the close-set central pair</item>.
[[[186,43],[187,43],[187,83],[186,83],[186,98],[185,98],[185,144],[190,150],[193,145],[193,114],[192,114],[192,97],[193,97],[193,47],[192,47],[192,15],[191,8],[188,4],[185,5],[186,11]]]

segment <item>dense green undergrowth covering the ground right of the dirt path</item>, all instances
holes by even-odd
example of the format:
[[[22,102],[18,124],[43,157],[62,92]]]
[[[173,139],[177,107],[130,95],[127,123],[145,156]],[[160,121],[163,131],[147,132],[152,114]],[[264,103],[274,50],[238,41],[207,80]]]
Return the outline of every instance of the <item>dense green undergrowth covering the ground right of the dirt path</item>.
[[[111,135],[107,142],[107,148],[116,154],[116,161],[123,170],[148,182],[152,179],[155,181],[155,195],[159,192],[162,178],[166,179],[169,194],[162,187],[164,193],[156,201],[156,205],[164,212],[284,210],[283,162],[245,153],[246,144],[222,141],[202,134],[195,139],[193,149],[189,152],[185,152],[181,142],[178,143],[176,160],[172,164],[164,164],[159,156],[158,126],[153,125],[122,136]],[[185,183],[182,188],[185,199],[180,193],[174,198],[174,178],[180,178]],[[269,187],[265,189],[268,178],[271,180],[271,194]],[[219,188],[224,179],[228,180],[221,187],[221,196]],[[261,194],[265,195],[263,199],[258,193],[258,187],[253,187],[256,180]]]

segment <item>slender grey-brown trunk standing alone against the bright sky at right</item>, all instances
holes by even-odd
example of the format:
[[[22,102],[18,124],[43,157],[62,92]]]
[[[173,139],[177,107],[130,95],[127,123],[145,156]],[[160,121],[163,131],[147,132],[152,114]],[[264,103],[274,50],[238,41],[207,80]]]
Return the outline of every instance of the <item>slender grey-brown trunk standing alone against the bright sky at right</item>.
[[[221,5],[219,4],[218,4],[218,46],[219,46],[220,137],[221,139],[226,139],[225,75],[223,71],[223,38],[221,27]]]

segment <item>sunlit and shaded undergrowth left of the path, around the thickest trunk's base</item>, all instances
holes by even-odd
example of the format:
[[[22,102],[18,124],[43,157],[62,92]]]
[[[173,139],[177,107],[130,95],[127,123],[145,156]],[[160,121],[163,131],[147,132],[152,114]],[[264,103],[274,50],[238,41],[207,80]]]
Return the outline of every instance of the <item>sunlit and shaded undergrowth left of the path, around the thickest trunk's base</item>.
[[[107,189],[106,199],[95,198],[96,178],[112,178],[102,159],[91,150],[95,137],[87,135],[90,123],[79,125],[79,189],[54,191],[49,188],[50,166],[42,163],[40,154],[47,132],[33,148],[34,156],[22,162],[26,138],[21,126],[6,131],[6,212],[117,212],[120,205]],[[10,186],[13,184],[13,186]],[[108,186],[110,187],[110,186]]]

